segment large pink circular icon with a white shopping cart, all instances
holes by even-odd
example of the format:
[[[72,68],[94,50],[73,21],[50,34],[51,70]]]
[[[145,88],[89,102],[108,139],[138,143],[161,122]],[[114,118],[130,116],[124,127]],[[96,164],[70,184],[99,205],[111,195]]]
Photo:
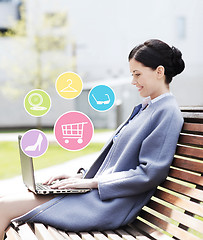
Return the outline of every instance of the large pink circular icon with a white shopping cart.
[[[61,115],[55,125],[54,134],[59,145],[70,151],[85,148],[91,141],[94,127],[90,118],[77,111]]]

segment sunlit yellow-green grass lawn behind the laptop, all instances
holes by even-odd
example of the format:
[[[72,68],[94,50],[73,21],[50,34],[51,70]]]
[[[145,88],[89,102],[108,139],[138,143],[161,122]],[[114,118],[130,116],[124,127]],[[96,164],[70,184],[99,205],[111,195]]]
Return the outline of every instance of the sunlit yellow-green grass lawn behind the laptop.
[[[50,143],[47,152],[35,159],[35,168],[41,169],[60,164],[71,159],[100,151],[103,143],[90,143],[81,151],[67,151],[56,143]],[[21,174],[17,142],[0,142],[0,179]]]

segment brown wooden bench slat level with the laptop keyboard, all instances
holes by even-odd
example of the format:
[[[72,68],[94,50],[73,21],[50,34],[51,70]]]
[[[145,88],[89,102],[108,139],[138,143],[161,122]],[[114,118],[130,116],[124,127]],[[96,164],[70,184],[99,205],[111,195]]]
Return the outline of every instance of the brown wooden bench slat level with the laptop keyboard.
[[[184,194],[186,196],[195,198],[199,201],[203,201],[203,193],[199,189],[186,187],[184,185],[181,185],[179,183],[172,182],[172,181],[169,181],[169,180],[164,181],[164,183],[161,184],[161,186],[165,187],[167,189],[173,190],[175,192]]]

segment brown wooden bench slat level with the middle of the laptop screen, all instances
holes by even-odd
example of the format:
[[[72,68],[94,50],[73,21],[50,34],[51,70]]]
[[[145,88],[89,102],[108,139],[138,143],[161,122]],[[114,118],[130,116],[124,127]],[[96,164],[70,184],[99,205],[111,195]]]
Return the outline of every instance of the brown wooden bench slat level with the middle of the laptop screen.
[[[203,162],[195,162],[191,160],[181,159],[175,157],[172,165],[182,169],[203,173]]]

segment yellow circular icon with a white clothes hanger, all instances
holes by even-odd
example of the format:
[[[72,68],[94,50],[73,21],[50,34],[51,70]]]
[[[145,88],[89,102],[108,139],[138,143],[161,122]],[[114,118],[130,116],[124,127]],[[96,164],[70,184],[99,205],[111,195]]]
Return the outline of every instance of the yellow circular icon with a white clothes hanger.
[[[74,72],[62,73],[56,80],[56,91],[62,98],[76,98],[80,95],[82,87],[81,77]]]

